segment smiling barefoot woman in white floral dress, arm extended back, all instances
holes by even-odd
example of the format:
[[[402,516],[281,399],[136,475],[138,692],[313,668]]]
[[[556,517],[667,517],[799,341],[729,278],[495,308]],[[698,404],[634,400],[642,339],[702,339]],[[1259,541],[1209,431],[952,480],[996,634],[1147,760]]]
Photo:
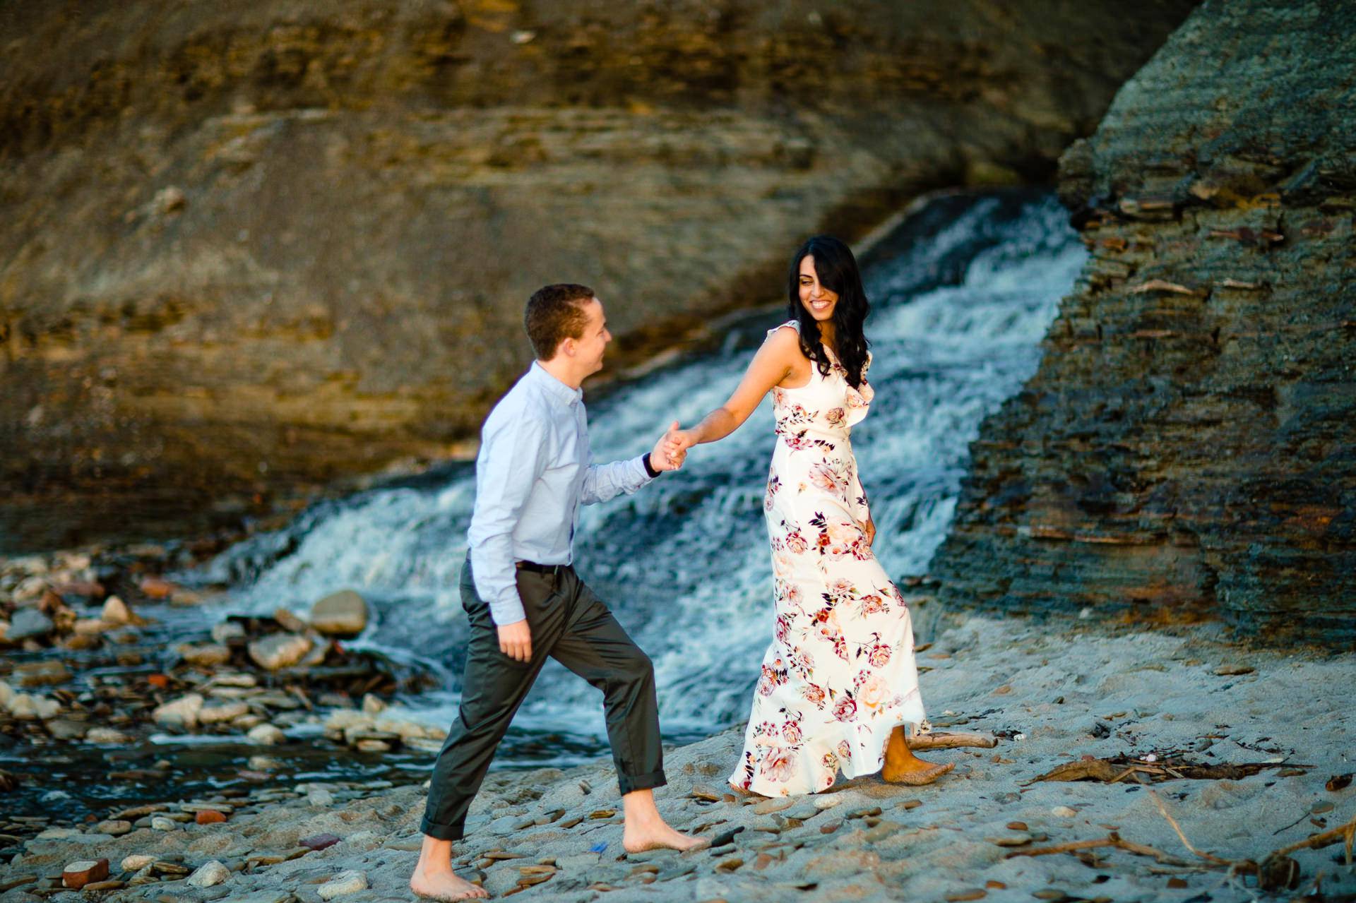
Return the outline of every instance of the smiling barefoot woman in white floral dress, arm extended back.
[[[773,393],[777,446],[763,508],[776,636],[730,777],[736,790],[818,792],[839,770],[929,784],[953,767],[923,762],[904,743],[904,724],[926,729],[913,628],[871,552],[876,525],[849,441],[872,400],[868,309],[848,245],[810,239],[791,263],[792,320],[767,332],[723,407],[670,438],[682,460],[734,433]]]

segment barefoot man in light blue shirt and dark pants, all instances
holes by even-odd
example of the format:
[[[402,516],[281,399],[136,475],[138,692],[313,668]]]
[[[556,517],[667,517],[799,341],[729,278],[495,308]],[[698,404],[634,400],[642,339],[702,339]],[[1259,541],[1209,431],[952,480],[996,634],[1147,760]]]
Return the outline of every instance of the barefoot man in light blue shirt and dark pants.
[[[682,465],[666,437],[631,461],[591,466],[583,380],[602,369],[612,335],[582,285],[548,285],[527,301],[536,361],[490,412],[476,460],[476,504],[461,603],[471,624],[461,709],[428,784],[419,862],[410,888],[442,900],[487,892],[452,870],[452,842],[509,721],[548,656],[603,691],[628,851],[702,845],[655,808],[664,784],[650,659],[575,574],[579,506],[635,492]],[[674,423],[671,428],[677,428]]]

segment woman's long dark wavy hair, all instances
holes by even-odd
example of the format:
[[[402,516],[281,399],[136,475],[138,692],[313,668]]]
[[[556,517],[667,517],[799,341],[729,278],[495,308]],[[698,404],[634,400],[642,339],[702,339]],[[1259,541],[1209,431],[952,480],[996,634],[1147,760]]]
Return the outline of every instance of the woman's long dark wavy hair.
[[[800,351],[815,362],[822,376],[829,376],[829,354],[819,338],[819,323],[800,302],[800,262],[807,256],[815,259],[815,274],[819,282],[838,293],[834,305],[834,351],[848,370],[848,384],[861,388],[866,369],[866,334],[862,324],[871,312],[866,292],[861,287],[861,273],[857,271],[857,258],[852,249],[831,235],[816,235],[796,249],[791,258],[791,273],[786,277],[788,313],[800,323]]]

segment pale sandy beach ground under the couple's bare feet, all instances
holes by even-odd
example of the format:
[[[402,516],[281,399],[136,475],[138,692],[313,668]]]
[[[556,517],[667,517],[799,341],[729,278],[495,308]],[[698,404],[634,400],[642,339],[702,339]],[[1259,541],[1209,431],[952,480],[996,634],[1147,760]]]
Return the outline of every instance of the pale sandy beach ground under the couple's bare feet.
[[[731,729],[667,751],[669,786],[658,793],[664,816],[713,838],[713,849],[624,854],[612,766],[599,763],[492,774],[456,865],[495,896],[570,902],[1268,898],[1256,877],[1188,851],[1153,795],[1197,850],[1230,861],[1260,861],[1349,822],[1356,789],[1325,782],[1353,767],[1351,656],[1258,651],[1195,632],[965,617],[919,652],[925,698],[938,732],[1001,739],[925,754],[956,762],[936,785],[866,777],[819,796],[735,799],[724,777],[742,732]],[[1239,780],[1157,782],[1146,770],[1136,773],[1146,785],[1134,776],[1032,782],[1086,757],[1267,767]],[[225,822],[165,820],[213,803],[229,809]],[[122,883],[103,885],[107,900],[408,900],[422,809],[418,786],[302,784],[244,800],[165,800],[121,837],[87,826],[28,841],[4,870],[0,900],[89,899],[96,892],[57,889],[60,875],[99,858],[107,881]],[[1021,854],[1112,832],[1163,856],[1113,846]],[[1302,875],[1273,899],[1315,883],[1322,899],[1356,892],[1341,845],[1292,856]],[[205,887],[190,884],[194,873]]]

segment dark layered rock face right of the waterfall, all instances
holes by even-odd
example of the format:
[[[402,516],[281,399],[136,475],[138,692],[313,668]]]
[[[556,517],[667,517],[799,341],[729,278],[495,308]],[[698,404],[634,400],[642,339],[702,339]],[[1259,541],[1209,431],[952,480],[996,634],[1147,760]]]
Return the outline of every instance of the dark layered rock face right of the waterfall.
[[[1062,161],[1093,256],[980,430],[953,605],[1356,640],[1356,7],[1197,9]]]

